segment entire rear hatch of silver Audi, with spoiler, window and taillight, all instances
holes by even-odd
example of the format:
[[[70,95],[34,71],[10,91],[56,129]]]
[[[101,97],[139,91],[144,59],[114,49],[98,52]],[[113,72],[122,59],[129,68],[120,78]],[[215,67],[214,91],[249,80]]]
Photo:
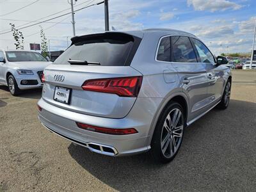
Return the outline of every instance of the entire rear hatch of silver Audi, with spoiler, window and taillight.
[[[125,33],[76,36],[44,70],[42,98],[54,106],[109,118],[131,110],[142,75],[130,63],[141,38]]]

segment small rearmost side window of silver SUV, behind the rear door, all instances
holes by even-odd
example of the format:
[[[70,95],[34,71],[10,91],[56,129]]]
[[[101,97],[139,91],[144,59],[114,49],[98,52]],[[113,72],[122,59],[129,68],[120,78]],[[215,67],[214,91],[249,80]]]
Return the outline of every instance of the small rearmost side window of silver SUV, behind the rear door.
[[[162,38],[158,52],[157,52],[157,60],[158,61],[169,61],[170,62],[170,36],[166,36]]]

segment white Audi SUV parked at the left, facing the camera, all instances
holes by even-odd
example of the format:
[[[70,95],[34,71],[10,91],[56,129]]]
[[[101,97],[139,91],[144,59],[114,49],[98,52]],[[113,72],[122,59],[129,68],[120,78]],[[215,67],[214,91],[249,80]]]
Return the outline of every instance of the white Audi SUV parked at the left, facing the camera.
[[[40,53],[34,51],[0,50],[0,84],[8,86],[12,95],[22,90],[42,88],[42,74],[51,64]]]

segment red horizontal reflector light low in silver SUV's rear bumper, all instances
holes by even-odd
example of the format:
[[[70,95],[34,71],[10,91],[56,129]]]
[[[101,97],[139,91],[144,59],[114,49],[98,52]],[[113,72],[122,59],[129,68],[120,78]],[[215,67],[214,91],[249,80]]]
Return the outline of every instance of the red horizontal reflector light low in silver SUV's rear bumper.
[[[85,129],[87,131],[93,131],[93,132],[100,132],[105,134],[116,134],[116,135],[122,135],[122,134],[134,134],[138,131],[134,128],[129,129],[111,129],[111,128],[104,128],[104,127],[96,127],[93,125],[86,125],[82,123],[76,123],[77,127],[81,129]]]

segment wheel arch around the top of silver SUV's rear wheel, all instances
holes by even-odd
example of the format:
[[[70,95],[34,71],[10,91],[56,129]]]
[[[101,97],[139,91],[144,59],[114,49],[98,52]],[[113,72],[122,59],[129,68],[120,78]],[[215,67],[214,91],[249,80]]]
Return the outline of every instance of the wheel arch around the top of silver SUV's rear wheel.
[[[172,94],[172,96],[168,97],[167,99],[164,99],[163,103],[161,104],[161,107],[159,108],[159,110],[157,112],[157,115],[154,117],[154,122],[152,122],[150,131],[149,131],[150,137],[148,140],[148,145],[151,144],[153,134],[156,129],[157,122],[159,121],[159,117],[163,113],[164,109],[170,104],[170,102],[173,102],[173,101],[178,102],[182,106],[182,109],[184,110],[184,114],[185,114],[185,125],[187,125],[188,109],[189,109],[188,98],[186,97],[185,93],[183,93],[183,92],[178,92],[178,93]]]

